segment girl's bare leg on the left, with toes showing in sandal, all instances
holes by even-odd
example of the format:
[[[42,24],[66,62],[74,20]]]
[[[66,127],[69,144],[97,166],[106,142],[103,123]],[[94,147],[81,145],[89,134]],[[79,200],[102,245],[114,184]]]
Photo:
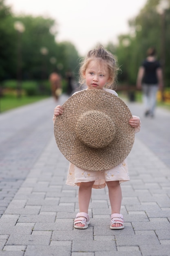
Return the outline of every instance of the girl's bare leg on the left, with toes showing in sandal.
[[[91,190],[95,181],[81,182],[79,186],[79,212],[88,214],[88,206],[91,199]],[[83,227],[84,224],[77,223],[77,226]]]

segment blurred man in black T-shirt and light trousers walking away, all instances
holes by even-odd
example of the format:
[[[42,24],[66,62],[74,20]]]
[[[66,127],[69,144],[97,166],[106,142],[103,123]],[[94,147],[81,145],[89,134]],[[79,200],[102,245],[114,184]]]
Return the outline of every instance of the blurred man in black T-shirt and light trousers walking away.
[[[151,47],[137,75],[137,88],[143,91],[145,116],[154,117],[157,102],[157,90],[163,88],[162,69],[156,59],[156,50]]]

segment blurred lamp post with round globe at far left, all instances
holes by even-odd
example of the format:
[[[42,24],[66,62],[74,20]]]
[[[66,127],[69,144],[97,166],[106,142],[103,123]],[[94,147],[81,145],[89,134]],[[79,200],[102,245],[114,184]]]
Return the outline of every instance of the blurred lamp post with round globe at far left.
[[[17,97],[21,98],[21,80],[22,80],[22,52],[21,52],[21,34],[25,27],[20,21],[14,22],[14,28],[18,32],[18,49],[17,49]]]

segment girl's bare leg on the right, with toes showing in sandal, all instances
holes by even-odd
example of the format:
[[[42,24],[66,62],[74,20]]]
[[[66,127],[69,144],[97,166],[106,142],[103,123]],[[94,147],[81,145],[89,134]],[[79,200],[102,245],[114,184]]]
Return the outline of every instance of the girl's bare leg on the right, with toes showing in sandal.
[[[110,206],[111,206],[111,214],[113,213],[120,213],[121,208],[121,186],[119,181],[108,181],[106,182],[108,186],[108,195],[110,199]],[[113,227],[120,227],[122,226],[119,223],[113,224]]]

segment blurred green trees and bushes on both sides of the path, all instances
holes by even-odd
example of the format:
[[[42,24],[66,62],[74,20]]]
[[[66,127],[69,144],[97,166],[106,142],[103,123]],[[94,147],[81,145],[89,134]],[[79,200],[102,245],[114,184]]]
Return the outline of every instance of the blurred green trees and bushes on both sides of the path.
[[[167,5],[162,6],[161,2]],[[164,85],[170,87],[170,0],[148,0],[136,17],[128,21],[129,33],[120,34],[117,43],[104,45],[118,59],[119,86],[135,88],[137,72],[154,46],[161,61]],[[78,32],[78,31],[77,31]],[[95,46],[94,46],[95,47]],[[6,91],[22,81],[27,95],[50,95],[49,74],[57,68],[66,87],[66,72],[78,77],[79,55],[71,42],[57,42],[57,22],[42,16],[16,16],[0,0],[0,86]]]

